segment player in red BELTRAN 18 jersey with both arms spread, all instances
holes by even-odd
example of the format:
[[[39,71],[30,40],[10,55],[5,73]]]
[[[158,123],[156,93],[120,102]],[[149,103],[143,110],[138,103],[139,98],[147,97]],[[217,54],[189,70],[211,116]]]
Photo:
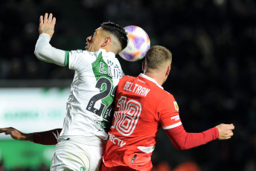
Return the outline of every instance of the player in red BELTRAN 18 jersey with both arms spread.
[[[123,77],[115,94],[115,114],[112,120],[102,171],[151,170],[151,155],[162,127],[179,150],[190,149],[216,139],[233,135],[233,124],[220,124],[205,132],[189,133],[179,118],[179,106],[173,95],[161,87],[170,73],[172,55],[162,46],[147,51],[144,74]],[[0,129],[14,139],[41,144],[57,143],[61,129],[24,134],[13,128]]]

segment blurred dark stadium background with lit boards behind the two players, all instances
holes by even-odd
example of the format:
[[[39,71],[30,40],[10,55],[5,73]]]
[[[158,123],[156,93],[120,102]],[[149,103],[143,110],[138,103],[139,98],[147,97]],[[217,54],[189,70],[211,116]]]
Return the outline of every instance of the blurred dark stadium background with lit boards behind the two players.
[[[84,49],[100,23],[138,25],[151,45],[173,53],[165,90],[176,97],[188,132],[234,123],[234,137],[179,152],[162,130],[153,154],[158,171],[256,170],[256,1],[2,0],[0,127],[24,132],[62,127],[73,71],[33,55],[39,16],[54,13],[51,45]],[[141,62],[121,59],[124,72]],[[54,146],[0,137],[0,170],[49,170]]]

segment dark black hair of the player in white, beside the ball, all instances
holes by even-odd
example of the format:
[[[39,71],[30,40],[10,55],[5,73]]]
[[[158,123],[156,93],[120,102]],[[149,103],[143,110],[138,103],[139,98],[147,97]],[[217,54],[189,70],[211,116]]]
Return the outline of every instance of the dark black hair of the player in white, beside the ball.
[[[121,44],[121,50],[127,47],[128,37],[127,32],[124,30],[124,28],[116,25],[114,22],[103,22],[100,27],[103,28],[103,30],[109,31],[118,38],[118,41]]]

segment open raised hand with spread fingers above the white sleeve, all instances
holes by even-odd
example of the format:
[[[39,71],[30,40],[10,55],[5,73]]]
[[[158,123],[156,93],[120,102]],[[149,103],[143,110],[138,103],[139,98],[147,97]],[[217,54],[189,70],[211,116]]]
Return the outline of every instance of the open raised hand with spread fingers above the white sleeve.
[[[50,37],[54,35],[54,26],[56,24],[56,18],[52,18],[52,13],[50,13],[48,18],[48,13],[45,13],[45,19],[40,16],[39,33],[47,33]]]

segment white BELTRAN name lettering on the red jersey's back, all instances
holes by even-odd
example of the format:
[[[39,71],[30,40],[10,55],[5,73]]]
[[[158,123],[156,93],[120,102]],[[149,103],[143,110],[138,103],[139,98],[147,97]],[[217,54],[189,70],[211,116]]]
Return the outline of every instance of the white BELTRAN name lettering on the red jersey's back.
[[[139,94],[144,97],[146,97],[148,92],[150,92],[150,88],[145,88],[144,86],[140,86],[138,84],[133,86],[133,84],[134,83],[127,81],[127,83],[124,85],[124,90]]]

